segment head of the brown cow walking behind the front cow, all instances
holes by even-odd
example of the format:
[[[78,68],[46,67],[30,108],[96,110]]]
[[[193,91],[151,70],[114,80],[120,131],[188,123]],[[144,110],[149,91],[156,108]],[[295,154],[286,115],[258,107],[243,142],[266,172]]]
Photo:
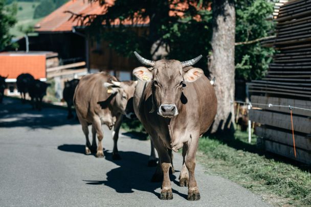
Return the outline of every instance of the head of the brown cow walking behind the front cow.
[[[114,109],[126,116],[130,116],[127,112],[129,113],[131,110],[127,109],[127,105],[128,101],[132,100],[134,96],[136,84],[137,81],[117,82],[113,80],[112,83],[104,83],[107,93],[115,95]]]

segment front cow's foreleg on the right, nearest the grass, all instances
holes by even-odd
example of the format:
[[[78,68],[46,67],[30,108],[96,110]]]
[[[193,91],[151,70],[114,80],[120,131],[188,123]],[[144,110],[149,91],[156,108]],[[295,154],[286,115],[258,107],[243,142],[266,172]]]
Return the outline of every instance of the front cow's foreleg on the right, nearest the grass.
[[[195,154],[198,145],[198,138],[199,136],[192,136],[188,142],[188,150],[185,160],[186,167],[189,171],[188,200],[199,200],[201,198],[194,176]]]

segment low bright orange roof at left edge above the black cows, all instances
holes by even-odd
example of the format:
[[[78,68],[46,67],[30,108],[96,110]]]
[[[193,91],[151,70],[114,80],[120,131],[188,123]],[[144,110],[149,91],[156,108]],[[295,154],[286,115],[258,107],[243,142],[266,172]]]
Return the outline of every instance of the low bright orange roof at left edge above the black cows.
[[[16,79],[29,73],[35,79],[46,78],[46,55],[0,53],[0,75]]]

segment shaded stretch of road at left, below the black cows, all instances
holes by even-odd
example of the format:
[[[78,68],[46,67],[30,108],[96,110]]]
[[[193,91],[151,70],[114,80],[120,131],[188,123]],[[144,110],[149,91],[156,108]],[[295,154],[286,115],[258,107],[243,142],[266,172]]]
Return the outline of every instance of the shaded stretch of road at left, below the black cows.
[[[77,120],[67,120],[67,111],[43,106],[42,111],[32,109],[28,103],[22,104],[20,99],[6,97],[0,105],[0,128],[29,127],[31,129],[52,129],[61,125],[79,124]]]

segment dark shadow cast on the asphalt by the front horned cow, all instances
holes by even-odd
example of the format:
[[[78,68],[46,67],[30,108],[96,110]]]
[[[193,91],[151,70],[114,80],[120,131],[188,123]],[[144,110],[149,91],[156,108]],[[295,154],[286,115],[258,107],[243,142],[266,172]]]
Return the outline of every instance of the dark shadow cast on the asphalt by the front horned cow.
[[[151,182],[151,177],[156,170],[155,168],[147,167],[149,156],[139,152],[122,152],[121,160],[113,160],[112,153],[105,151],[105,157],[108,161],[118,165],[117,168],[107,172],[105,180],[83,180],[87,185],[105,185],[115,189],[117,193],[133,193],[137,191],[145,191],[153,193],[160,197],[160,193],[156,189],[161,187],[161,182]],[[175,175],[170,175],[171,180],[175,180]],[[173,189],[173,193],[186,198],[180,192]]]

